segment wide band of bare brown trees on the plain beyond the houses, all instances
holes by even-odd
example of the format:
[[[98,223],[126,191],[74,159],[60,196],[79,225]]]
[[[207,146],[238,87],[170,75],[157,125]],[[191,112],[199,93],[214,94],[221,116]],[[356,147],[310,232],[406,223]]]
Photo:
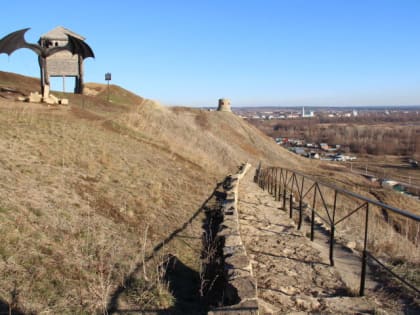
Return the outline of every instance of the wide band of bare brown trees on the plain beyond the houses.
[[[420,158],[420,116],[369,113],[358,117],[315,117],[293,120],[252,120],[271,137],[340,144],[344,151],[410,155]]]

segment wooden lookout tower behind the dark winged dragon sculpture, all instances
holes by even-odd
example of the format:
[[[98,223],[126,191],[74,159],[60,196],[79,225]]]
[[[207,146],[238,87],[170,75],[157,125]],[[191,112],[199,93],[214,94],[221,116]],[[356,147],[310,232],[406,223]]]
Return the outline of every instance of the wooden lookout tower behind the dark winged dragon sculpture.
[[[48,33],[42,35],[39,39],[39,44],[42,47],[66,46],[68,43],[68,37],[66,34],[69,34],[80,40],[85,40],[83,36],[78,35],[62,26],[58,26]],[[74,93],[82,94],[83,58],[77,54],[73,55],[70,51],[67,50],[57,52],[47,57],[45,73],[41,73],[41,81],[44,85],[43,89],[45,85],[49,86],[50,77],[74,77],[76,80]]]

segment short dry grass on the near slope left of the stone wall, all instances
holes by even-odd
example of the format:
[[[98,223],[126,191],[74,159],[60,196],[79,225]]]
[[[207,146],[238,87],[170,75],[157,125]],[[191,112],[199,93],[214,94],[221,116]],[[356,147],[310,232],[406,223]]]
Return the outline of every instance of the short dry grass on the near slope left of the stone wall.
[[[104,310],[140,260],[144,226],[150,251],[211,187],[169,153],[69,111],[17,104],[0,121],[0,295],[17,292],[27,312]]]

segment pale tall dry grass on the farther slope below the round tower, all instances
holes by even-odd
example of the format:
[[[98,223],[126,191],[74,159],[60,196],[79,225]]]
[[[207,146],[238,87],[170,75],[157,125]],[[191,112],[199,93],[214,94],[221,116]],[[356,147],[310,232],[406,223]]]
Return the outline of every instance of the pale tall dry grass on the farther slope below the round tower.
[[[288,156],[231,113],[164,107],[150,110],[141,105],[118,121],[144,137],[152,135],[153,141],[192,163],[221,173],[236,167],[238,161],[255,164]]]

